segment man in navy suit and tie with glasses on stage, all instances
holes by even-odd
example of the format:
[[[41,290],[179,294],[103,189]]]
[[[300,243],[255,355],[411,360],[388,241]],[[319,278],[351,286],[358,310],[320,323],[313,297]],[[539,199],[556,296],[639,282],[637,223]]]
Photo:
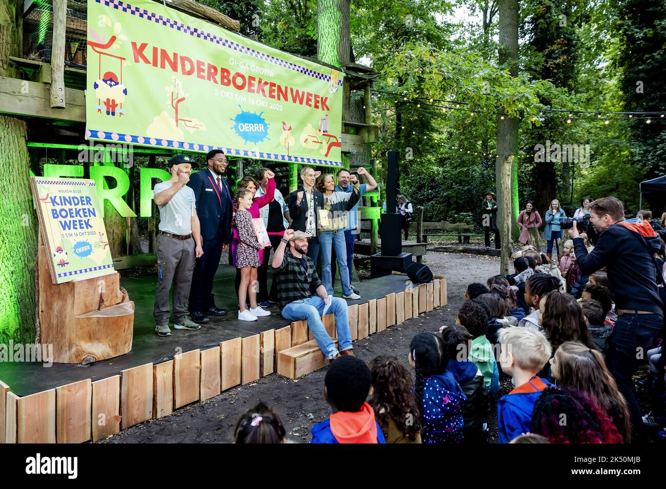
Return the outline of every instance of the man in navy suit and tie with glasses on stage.
[[[224,178],[226,156],[222,150],[206,154],[208,168],[190,176],[188,187],[194,190],[196,214],[201,223],[204,254],[194,262],[190,288],[190,318],[196,323],[210,321],[208,315],[223,316],[224,309],[215,306],[212,280],[220,265],[222,251],[231,241],[232,199]]]

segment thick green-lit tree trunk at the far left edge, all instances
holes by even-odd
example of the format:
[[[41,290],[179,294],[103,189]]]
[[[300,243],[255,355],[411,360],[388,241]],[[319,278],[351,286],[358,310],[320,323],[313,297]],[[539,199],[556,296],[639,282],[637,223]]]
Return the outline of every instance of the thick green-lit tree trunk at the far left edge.
[[[17,77],[10,56],[21,57],[23,1],[0,3],[0,76]],[[30,191],[27,126],[18,117],[0,114],[3,170],[0,199],[0,343],[35,341],[35,265],[37,220]],[[47,279],[51,279],[47,277]]]

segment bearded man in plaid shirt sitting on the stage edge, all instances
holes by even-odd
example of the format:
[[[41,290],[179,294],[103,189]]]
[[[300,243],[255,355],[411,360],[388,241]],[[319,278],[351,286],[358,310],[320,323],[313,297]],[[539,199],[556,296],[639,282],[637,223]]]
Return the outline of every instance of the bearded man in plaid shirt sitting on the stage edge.
[[[314,262],[308,257],[308,234],[302,231],[286,230],[284,238],[273,253],[273,279],[278,284],[278,300],[282,317],[290,321],[306,319],[319,349],[329,360],[340,355],[354,355],[352,333],[349,331],[347,302],[340,297],[332,297],[317,275]],[[329,305],[330,301],[330,305]],[[338,331],[338,347],[330,338],[322,314],[324,307],[335,314]]]

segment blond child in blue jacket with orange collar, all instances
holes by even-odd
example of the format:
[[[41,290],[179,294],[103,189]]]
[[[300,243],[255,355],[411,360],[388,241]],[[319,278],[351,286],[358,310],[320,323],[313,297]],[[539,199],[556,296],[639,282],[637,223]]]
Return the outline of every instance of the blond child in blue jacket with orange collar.
[[[509,327],[500,331],[501,369],[513,378],[515,388],[498,401],[500,443],[531,431],[534,403],[541,391],[552,387],[537,372],[550,359],[552,349],[543,334],[531,328]]]

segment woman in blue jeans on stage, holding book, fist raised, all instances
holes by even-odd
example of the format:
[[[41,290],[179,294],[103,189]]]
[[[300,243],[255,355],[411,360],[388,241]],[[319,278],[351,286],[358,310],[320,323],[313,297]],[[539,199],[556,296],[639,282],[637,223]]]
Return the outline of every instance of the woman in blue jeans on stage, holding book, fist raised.
[[[317,190],[324,194],[324,209],[317,210],[319,214],[319,245],[322,253],[322,283],[326,291],[333,294],[333,277],[331,273],[332,249],[335,246],[336,259],[340,269],[342,282],[342,295],[345,299],[360,299],[354,293],[349,280],[347,267],[347,242],[344,239],[344,230],[347,227],[347,208],[352,194],[358,200],[359,184],[356,175],[350,176],[353,192],[335,192],[335,182],[331,174],[320,177]]]

